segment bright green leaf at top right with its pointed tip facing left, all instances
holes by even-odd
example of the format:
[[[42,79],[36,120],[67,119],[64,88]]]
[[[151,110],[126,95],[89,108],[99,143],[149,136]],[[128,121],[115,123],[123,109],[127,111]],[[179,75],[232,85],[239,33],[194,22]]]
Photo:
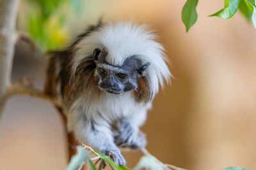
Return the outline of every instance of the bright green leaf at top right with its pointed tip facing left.
[[[225,7],[209,17],[216,16],[224,19],[231,18],[236,13],[239,3],[240,0],[225,0]]]

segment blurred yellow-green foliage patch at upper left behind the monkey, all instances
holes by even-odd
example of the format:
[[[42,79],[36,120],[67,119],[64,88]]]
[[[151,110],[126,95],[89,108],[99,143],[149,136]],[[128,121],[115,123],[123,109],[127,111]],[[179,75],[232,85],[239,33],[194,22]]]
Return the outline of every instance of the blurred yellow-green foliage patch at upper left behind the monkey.
[[[62,48],[70,36],[67,30],[68,11],[81,13],[83,0],[26,0],[29,3],[27,31],[42,50]]]

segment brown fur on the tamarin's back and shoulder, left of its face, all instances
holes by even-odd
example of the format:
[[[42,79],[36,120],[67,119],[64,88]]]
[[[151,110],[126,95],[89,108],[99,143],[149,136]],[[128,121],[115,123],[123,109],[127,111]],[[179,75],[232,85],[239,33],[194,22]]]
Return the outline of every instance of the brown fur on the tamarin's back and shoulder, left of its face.
[[[72,70],[72,53],[68,50],[49,52],[52,57],[47,67],[45,93],[57,99],[61,97],[63,105],[70,106],[78,97],[86,95],[98,98],[102,93],[98,89],[94,76],[96,64],[93,59],[85,60]]]

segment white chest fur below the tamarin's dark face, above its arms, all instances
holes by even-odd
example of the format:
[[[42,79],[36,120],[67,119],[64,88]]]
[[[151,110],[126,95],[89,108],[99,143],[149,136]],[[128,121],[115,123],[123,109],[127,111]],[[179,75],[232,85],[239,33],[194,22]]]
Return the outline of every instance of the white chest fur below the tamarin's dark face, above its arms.
[[[132,118],[134,124],[140,126],[145,121],[147,110],[151,106],[151,103],[136,102],[131,92],[120,95],[104,94],[98,100],[92,97],[81,97],[68,111],[68,129],[72,131],[76,122],[82,118],[93,119],[100,124],[113,124],[116,120]]]

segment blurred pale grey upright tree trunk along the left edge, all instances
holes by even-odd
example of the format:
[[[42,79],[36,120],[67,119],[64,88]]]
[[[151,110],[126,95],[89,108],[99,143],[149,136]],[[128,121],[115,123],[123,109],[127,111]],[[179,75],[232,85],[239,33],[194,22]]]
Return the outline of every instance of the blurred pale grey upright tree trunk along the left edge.
[[[0,118],[11,82],[18,4],[19,0],[0,0]]]

